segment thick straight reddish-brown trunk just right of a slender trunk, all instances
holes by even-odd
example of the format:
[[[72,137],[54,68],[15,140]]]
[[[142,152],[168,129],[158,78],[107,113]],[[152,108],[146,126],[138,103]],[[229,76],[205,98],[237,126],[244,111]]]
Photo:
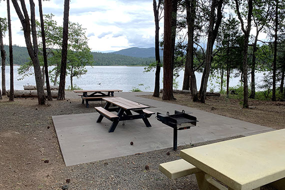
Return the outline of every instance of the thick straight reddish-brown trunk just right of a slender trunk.
[[[171,69],[171,7],[172,0],[164,0],[164,44],[163,44],[163,94],[162,99],[171,99],[173,96]],[[171,78],[172,77],[172,78]]]

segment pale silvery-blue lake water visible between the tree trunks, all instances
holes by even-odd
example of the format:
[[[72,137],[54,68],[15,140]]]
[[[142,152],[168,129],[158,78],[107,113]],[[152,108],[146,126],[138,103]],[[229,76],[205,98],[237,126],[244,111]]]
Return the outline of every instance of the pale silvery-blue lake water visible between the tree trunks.
[[[25,77],[18,80],[20,76],[17,73],[17,68],[14,66],[14,89],[23,89],[23,85],[35,85],[34,75]],[[87,73],[80,78],[73,78],[73,84],[76,84],[82,89],[121,89],[123,91],[130,91],[132,88],[137,87],[142,91],[153,91],[154,89],[154,71],[143,73],[143,66],[86,66]],[[9,89],[9,66],[5,68],[6,73],[6,89]],[[182,88],[183,73],[179,72],[179,77],[176,79],[178,82],[178,89]],[[197,87],[200,86],[201,73],[196,73]],[[256,79],[261,79],[261,73],[256,73]],[[160,72],[160,88],[162,88],[163,69]],[[0,78],[1,81],[1,78]],[[1,82],[0,82],[1,83]],[[213,88],[214,91],[219,90],[217,83],[210,85],[208,88]],[[257,82],[256,82],[257,83]],[[143,84],[143,85],[139,85]],[[235,86],[239,84],[239,77],[231,78],[229,85]],[[70,85],[70,78],[66,76],[66,88]]]

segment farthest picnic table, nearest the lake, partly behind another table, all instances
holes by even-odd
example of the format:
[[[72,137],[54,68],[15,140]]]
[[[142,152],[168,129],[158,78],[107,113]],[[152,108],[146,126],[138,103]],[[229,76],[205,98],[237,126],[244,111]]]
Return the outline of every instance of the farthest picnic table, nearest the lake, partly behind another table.
[[[95,90],[73,90],[75,93],[80,93],[78,95],[82,98],[82,104],[86,101],[86,107],[89,107],[88,101],[98,101],[102,100],[103,97],[114,96],[115,91],[122,91],[120,89],[95,89]],[[87,94],[91,92],[90,94]],[[107,92],[107,93],[106,93]]]

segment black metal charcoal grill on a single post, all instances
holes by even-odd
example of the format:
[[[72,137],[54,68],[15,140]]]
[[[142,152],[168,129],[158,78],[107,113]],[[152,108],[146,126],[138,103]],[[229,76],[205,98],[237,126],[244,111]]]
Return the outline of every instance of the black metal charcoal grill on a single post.
[[[165,114],[157,112],[156,118],[162,123],[171,126],[173,128],[173,149],[177,149],[177,130],[183,130],[196,126],[197,118],[190,115],[192,112],[185,113],[175,110],[173,115],[169,115],[169,112]]]

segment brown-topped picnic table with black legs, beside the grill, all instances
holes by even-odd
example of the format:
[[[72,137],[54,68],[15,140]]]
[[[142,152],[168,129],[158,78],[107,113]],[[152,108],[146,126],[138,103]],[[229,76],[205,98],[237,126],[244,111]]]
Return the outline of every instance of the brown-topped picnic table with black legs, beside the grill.
[[[119,121],[132,119],[141,118],[147,127],[151,126],[147,118],[154,114],[154,112],[145,109],[149,108],[149,106],[130,101],[122,97],[108,97],[102,99],[106,101],[106,104],[104,107],[95,107],[95,109],[100,113],[96,122],[101,122],[103,117],[111,120],[112,124],[108,132],[113,132]],[[110,107],[110,105],[114,105],[114,107]],[[111,111],[115,111],[117,114],[114,114]],[[132,114],[131,111],[137,114]]]

